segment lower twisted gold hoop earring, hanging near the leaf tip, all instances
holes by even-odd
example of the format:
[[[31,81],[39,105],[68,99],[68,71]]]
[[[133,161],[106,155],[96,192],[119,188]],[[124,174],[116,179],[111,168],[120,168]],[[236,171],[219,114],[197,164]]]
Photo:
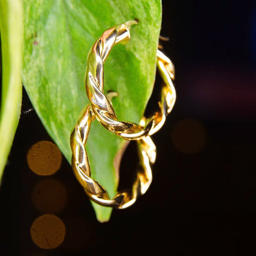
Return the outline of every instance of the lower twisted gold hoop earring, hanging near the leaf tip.
[[[140,164],[132,191],[120,192],[113,199],[110,199],[105,188],[90,177],[90,164],[85,145],[89,135],[90,124],[94,119],[94,113],[90,106],[87,106],[71,134],[72,168],[79,183],[92,201],[102,206],[124,209],[134,204],[138,196],[145,194],[146,190],[148,190],[152,182],[150,165],[154,164],[156,160],[156,146],[149,136],[137,141]]]

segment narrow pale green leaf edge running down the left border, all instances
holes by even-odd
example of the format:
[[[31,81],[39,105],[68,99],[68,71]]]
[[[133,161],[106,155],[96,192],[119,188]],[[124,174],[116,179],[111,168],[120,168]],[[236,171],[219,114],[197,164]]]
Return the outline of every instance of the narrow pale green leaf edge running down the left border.
[[[22,4],[0,1],[2,95],[0,113],[0,180],[18,126],[22,102]]]

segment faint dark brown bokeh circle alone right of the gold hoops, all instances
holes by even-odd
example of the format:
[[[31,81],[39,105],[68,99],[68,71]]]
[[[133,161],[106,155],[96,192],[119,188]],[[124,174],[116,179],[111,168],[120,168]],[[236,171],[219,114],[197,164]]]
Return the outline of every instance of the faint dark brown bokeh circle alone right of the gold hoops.
[[[183,119],[172,130],[172,144],[185,154],[198,153],[206,142],[206,129],[195,119]]]

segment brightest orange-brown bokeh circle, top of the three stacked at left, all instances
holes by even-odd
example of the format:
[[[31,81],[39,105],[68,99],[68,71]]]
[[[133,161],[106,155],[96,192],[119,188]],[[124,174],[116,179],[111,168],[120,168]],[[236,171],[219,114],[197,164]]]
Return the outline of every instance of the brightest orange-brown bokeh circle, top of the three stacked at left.
[[[54,143],[42,141],[31,146],[26,159],[34,173],[46,176],[52,175],[60,169],[62,153]]]

